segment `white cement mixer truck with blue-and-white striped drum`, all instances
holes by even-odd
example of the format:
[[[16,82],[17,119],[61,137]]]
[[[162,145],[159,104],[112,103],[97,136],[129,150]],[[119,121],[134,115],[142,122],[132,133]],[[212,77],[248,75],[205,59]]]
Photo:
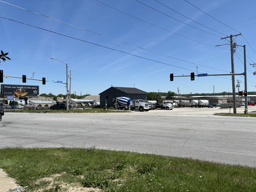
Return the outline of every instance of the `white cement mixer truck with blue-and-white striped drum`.
[[[113,98],[112,102],[114,103],[114,107],[116,109],[131,109],[131,110],[139,110],[139,111],[149,111],[149,104],[144,103],[143,100],[131,100],[129,97],[117,97]]]

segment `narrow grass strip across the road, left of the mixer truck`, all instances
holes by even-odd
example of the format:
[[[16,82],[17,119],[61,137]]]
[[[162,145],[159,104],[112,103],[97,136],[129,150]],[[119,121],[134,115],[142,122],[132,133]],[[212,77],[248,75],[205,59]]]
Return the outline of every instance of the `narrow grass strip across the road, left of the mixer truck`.
[[[69,109],[67,110],[5,110],[5,112],[18,112],[18,113],[122,113],[122,112],[130,112],[124,110],[104,110],[103,108],[88,108],[88,109]]]

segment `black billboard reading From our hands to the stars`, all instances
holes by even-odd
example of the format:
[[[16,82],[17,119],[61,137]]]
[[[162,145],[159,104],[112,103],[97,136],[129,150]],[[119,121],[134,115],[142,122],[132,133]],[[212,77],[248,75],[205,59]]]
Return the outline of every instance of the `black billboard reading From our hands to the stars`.
[[[39,86],[35,85],[1,85],[1,95],[13,95],[15,97],[38,96]]]

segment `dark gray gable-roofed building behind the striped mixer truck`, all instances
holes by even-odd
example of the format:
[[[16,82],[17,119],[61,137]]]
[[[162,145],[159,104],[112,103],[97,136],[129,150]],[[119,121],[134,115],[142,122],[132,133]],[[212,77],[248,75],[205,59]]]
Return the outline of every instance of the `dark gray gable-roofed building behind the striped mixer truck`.
[[[107,99],[107,106],[113,106],[112,99],[116,97],[129,97],[130,99],[142,99],[145,100],[147,99],[147,92],[142,91],[137,88],[130,88],[130,87],[111,87],[100,94],[100,106],[105,106],[106,105],[106,99],[105,97],[108,96]]]

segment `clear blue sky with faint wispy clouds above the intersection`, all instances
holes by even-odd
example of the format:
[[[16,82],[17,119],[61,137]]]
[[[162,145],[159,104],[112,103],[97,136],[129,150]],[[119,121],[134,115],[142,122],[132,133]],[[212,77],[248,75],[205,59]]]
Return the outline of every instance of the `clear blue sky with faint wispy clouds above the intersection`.
[[[185,0],[138,0],[145,5],[136,0],[99,1],[106,5],[96,0],[0,2],[1,17],[24,23],[0,18],[0,49],[11,58],[1,62],[0,68],[9,76],[31,78],[34,72],[35,79],[66,82],[66,66],[50,59],[54,57],[68,63],[71,93],[77,95],[98,95],[111,85],[147,92],[177,93],[179,88],[181,94],[232,92],[231,76],[196,77],[195,81],[174,77],[170,82],[169,75],[196,74],[197,70],[230,73],[230,46],[215,45],[228,44],[229,38],[221,38],[242,33],[233,39],[246,45],[248,91],[256,91],[255,68],[250,65],[256,62],[255,1],[187,0],[223,24]],[[243,47],[239,47],[234,54],[236,73],[244,72],[243,60]],[[244,76],[236,75],[235,84],[237,80],[244,90]],[[66,93],[65,84],[59,83],[27,80],[23,84],[22,79],[10,77],[4,84],[39,85],[40,94]]]

